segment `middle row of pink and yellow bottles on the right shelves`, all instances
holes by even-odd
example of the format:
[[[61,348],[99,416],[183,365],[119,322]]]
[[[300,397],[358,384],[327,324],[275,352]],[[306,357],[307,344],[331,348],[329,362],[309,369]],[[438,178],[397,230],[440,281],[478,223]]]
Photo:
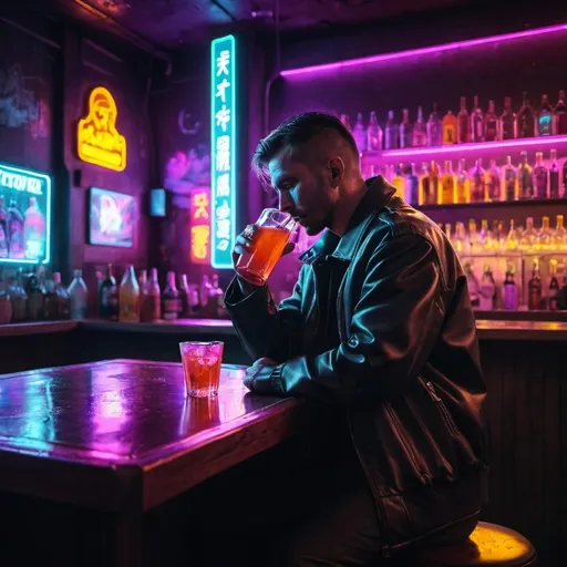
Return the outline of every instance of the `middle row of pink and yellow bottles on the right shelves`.
[[[491,159],[484,168],[481,158],[468,169],[466,159],[461,158],[456,172],[447,159],[443,169],[435,161],[422,163],[421,169],[414,163],[385,165],[363,169],[367,177],[383,175],[410,205],[453,205],[466,203],[495,203],[518,199],[556,199],[567,195],[567,159],[557,161],[557,152],[549,152],[544,161],[543,153],[536,153],[534,165],[528,163],[527,152],[522,152],[516,167],[507,156],[504,166]]]

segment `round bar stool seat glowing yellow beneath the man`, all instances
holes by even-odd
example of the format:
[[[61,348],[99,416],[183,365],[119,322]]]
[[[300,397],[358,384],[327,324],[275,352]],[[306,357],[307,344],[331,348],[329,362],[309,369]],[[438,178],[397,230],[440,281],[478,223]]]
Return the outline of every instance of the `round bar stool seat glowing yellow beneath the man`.
[[[466,542],[424,547],[411,559],[412,567],[537,566],[536,550],[523,535],[486,522],[480,522]]]

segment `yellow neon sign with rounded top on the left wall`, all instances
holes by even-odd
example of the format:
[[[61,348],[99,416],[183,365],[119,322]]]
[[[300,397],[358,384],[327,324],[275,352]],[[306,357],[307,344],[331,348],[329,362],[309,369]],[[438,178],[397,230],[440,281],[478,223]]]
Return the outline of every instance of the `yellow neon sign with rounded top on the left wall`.
[[[89,96],[89,113],[76,127],[76,151],[83,162],[122,172],[126,167],[126,138],[116,130],[114,96],[96,86]]]

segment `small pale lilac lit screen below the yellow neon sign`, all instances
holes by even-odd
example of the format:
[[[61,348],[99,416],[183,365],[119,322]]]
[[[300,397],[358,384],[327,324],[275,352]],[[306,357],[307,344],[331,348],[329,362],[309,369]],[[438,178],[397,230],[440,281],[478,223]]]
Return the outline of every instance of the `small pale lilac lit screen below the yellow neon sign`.
[[[134,246],[136,199],[132,195],[91,187],[89,243],[100,246]]]

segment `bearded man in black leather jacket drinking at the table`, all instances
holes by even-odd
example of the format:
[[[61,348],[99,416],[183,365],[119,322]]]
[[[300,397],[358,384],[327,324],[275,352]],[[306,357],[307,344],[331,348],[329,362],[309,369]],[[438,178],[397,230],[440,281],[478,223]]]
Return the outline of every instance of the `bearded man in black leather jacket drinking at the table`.
[[[281,210],[324,233],[279,307],[267,286],[239,276],[229,286],[227,309],[256,360],[245,383],[338,409],[339,457],[305,474],[332,488],[303,520],[270,530],[271,561],[370,566],[412,544],[466,538],[486,502],[485,385],[451,244],[382,177],[364,182],[332,115],[287,120],[252,166]],[[254,226],[238,236],[235,265],[254,238]]]

